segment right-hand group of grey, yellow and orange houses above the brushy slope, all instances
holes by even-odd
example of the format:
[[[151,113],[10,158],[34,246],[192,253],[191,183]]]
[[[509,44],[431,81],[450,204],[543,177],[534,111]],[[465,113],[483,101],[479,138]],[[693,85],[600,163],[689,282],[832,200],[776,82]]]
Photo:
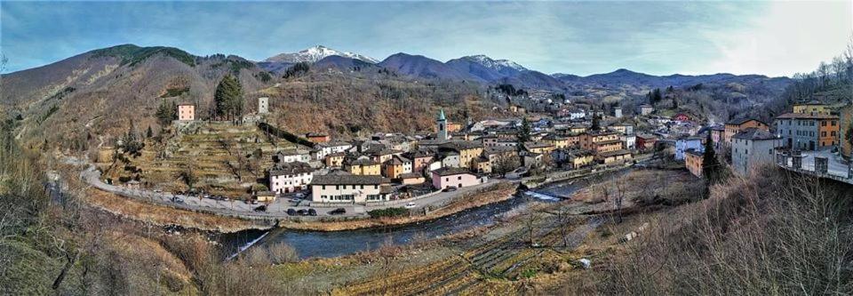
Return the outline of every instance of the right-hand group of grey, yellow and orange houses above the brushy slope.
[[[812,100],[794,104],[790,113],[776,116],[773,124],[744,118],[713,125],[712,147],[730,156],[734,172],[745,175],[756,167],[773,164],[779,150],[814,151],[841,145],[841,119],[825,104]],[[694,175],[702,174],[705,137],[688,137],[676,144],[676,159]]]

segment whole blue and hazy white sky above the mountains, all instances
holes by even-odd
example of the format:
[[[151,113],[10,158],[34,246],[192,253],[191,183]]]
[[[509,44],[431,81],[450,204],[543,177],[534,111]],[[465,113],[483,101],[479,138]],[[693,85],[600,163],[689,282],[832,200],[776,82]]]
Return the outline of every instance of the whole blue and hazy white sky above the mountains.
[[[116,44],[264,60],[322,44],[382,60],[485,54],[548,74],[810,72],[853,34],[851,1],[11,2],[6,73]]]

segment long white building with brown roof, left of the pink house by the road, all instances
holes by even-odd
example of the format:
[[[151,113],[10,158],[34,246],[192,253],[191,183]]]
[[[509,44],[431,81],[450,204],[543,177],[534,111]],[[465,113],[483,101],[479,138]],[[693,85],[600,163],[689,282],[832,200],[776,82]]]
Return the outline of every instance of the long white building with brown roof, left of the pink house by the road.
[[[390,189],[382,176],[321,175],[311,184],[311,201],[315,203],[367,203],[388,200]]]

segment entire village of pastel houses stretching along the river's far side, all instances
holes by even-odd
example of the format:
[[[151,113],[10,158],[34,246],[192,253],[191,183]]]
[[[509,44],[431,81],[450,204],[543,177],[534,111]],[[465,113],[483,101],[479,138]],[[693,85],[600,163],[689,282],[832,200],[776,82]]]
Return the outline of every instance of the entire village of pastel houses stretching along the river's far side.
[[[530,100],[550,100],[546,98],[539,95],[537,99],[534,93]],[[790,113],[777,116],[772,124],[753,118],[700,123],[683,113],[658,115],[650,104],[639,105],[629,117],[619,106],[605,114],[600,108],[570,100],[559,102],[558,108],[548,112],[529,113],[510,105],[506,111],[513,116],[479,122],[470,118],[451,121],[439,109],[434,132],[376,132],[356,139],[280,130],[264,121],[270,110],[269,99],[260,97],[252,102],[257,104],[257,112],[239,122],[226,123],[200,120],[195,105],[178,104],[172,124],[179,135],[224,124],[259,130],[268,139],[281,138],[276,145],[251,153],[263,158],[256,160],[255,170],[263,175],[254,184],[243,181],[238,183],[240,190],[219,190],[217,194],[210,186],[194,186],[200,178],[189,171],[179,172],[185,182],[171,188],[140,178],[140,174],[113,180],[92,171],[85,179],[106,191],[156,199],[179,208],[284,219],[389,214],[383,210],[426,213],[466,192],[484,191],[498,183],[576,178],[652,158],[701,178],[707,148],[713,148],[713,157],[721,156],[740,175],[776,163],[789,170],[853,180],[853,167],[842,159],[849,156],[850,149],[841,144],[840,118],[833,108],[817,101],[794,105]],[[554,106],[553,101],[547,103]],[[256,135],[253,141],[259,142],[258,138]],[[196,163],[196,157],[203,156],[188,159]],[[136,168],[130,172],[135,170],[142,171]],[[222,179],[221,173],[208,174],[213,175],[209,179]],[[239,174],[237,178],[243,180]]]

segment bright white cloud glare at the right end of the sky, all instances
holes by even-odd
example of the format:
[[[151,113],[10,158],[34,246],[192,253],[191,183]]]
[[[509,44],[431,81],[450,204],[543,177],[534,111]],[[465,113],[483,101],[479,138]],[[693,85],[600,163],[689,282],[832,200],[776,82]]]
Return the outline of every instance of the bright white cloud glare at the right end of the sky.
[[[850,2],[774,2],[738,31],[710,31],[719,57],[695,72],[791,76],[841,54],[853,33]]]

